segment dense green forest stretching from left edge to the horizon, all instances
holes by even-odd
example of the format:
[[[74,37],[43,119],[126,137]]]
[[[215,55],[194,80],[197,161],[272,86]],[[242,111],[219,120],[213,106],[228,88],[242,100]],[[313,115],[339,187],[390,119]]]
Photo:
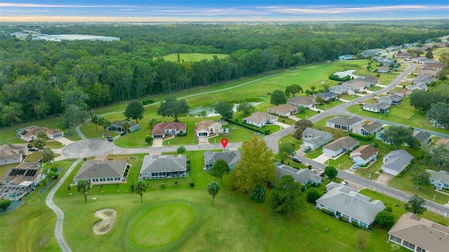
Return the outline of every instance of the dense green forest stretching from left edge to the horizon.
[[[0,24],[0,126],[359,55],[449,34],[447,20],[295,24]],[[11,32],[92,34],[121,41],[32,41]],[[170,53],[226,53],[198,62]],[[78,99],[78,100],[76,100]],[[73,107],[72,107],[73,109]],[[67,123],[68,125],[69,123]]]

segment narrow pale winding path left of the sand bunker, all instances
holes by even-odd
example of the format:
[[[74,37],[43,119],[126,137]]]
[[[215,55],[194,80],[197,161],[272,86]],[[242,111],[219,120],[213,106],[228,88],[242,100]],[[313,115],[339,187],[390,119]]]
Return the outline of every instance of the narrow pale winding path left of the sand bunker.
[[[45,200],[45,203],[53,212],[56,213],[56,226],[55,226],[55,238],[58,242],[58,245],[62,249],[62,252],[72,252],[72,250],[69,248],[67,243],[65,242],[64,235],[62,234],[62,224],[64,222],[64,212],[61,208],[56,206],[55,203],[53,203],[53,197],[55,197],[56,191],[61,187],[61,185],[69,178],[70,173],[74,170],[75,166],[81,161],[81,159],[76,160],[72,166],[69,167],[67,172],[62,176],[62,178],[59,180],[58,184],[55,185],[55,187],[52,188],[52,190],[48,193],[47,198]]]

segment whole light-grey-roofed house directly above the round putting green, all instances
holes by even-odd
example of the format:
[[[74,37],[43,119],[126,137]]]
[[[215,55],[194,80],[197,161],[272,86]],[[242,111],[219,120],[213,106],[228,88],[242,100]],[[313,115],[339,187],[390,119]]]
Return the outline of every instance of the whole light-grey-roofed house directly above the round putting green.
[[[187,177],[187,157],[175,155],[147,155],[143,158],[139,179]]]

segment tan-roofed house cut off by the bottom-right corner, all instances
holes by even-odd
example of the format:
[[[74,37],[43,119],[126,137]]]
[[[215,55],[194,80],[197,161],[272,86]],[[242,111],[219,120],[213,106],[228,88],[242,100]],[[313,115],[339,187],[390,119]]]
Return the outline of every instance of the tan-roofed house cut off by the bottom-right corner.
[[[404,213],[388,232],[388,241],[411,251],[445,252],[449,248],[449,227]]]

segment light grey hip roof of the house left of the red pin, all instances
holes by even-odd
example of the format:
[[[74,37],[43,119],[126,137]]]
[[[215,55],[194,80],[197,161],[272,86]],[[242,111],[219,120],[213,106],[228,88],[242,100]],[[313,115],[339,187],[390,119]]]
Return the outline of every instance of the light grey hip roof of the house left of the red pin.
[[[140,173],[187,171],[187,157],[175,155],[147,155],[142,162]]]

